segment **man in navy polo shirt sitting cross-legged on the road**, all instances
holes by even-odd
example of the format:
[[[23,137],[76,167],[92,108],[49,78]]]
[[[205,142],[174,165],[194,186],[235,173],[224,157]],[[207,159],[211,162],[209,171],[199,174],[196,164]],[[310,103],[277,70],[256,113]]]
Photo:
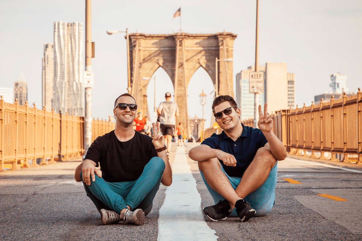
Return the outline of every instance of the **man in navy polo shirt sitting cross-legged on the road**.
[[[189,152],[189,157],[198,161],[215,203],[203,212],[212,221],[228,216],[240,217],[241,221],[265,216],[274,205],[277,160],[287,156],[283,143],[272,131],[267,104],[264,114],[259,106],[259,129],[240,122],[240,109],[231,96],[216,97],[212,112],[223,131],[212,134]]]

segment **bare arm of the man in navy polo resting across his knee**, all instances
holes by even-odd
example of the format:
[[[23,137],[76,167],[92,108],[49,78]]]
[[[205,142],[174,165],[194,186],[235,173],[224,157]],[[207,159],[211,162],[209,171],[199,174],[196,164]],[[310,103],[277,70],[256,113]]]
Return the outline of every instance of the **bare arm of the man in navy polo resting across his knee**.
[[[194,161],[207,161],[217,157],[227,166],[236,166],[236,159],[233,155],[219,149],[213,149],[208,145],[198,145],[189,151],[189,157]]]

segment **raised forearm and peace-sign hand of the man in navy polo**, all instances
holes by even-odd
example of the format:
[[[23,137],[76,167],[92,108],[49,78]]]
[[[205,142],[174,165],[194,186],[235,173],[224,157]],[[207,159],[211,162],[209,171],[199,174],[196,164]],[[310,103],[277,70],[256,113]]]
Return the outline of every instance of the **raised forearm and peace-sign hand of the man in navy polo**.
[[[267,111],[268,104],[264,105],[264,114],[261,111],[261,105],[259,105],[259,121],[258,127],[263,132],[268,143],[264,147],[268,147],[278,161],[282,161],[287,157],[287,151],[283,143],[277,138],[273,130],[273,119],[270,118],[270,115]]]

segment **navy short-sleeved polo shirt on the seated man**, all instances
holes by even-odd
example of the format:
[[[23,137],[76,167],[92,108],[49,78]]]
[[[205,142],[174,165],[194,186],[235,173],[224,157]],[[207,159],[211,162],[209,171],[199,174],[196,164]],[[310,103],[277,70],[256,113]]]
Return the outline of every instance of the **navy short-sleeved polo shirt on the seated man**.
[[[219,160],[225,172],[230,177],[242,177],[245,170],[253,161],[254,156],[260,147],[264,147],[268,141],[260,129],[243,126],[243,133],[233,141],[224,131],[221,134],[212,134],[209,138],[202,141],[202,145],[208,145],[213,149],[219,149],[223,152],[230,153],[236,159],[236,166],[226,166]]]

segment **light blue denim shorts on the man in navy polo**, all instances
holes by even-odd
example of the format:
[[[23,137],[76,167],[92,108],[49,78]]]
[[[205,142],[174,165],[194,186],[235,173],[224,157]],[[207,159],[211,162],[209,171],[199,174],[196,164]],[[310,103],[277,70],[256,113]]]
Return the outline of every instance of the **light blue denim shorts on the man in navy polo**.
[[[220,164],[221,165],[221,164]],[[240,183],[240,177],[230,177],[226,172],[224,171],[223,167],[221,166],[221,170],[226,175],[226,177],[229,179],[231,186],[235,190],[237,185]],[[271,208],[274,206],[275,201],[275,185],[277,184],[277,172],[278,172],[278,165],[275,164],[273,168],[271,168],[268,178],[266,178],[265,182],[255,191],[253,191],[251,194],[246,196],[244,200],[250,203],[251,207],[254,208],[256,211],[255,216],[265,216],[270,212]],[[212,199],[214,199],[214,203],[218,203],[220,200],[224,200],[220,194],[216,193],[214,189],[212,189],[209,184],[207,184],[205,177],[203,176],[203,173],[200,171],[201,177],[203,181],[205,182],[205,185],[207,187],[207,190],[209,190]],[[238,217],[236,213],[236,208],[232,210],[229,217]]]

